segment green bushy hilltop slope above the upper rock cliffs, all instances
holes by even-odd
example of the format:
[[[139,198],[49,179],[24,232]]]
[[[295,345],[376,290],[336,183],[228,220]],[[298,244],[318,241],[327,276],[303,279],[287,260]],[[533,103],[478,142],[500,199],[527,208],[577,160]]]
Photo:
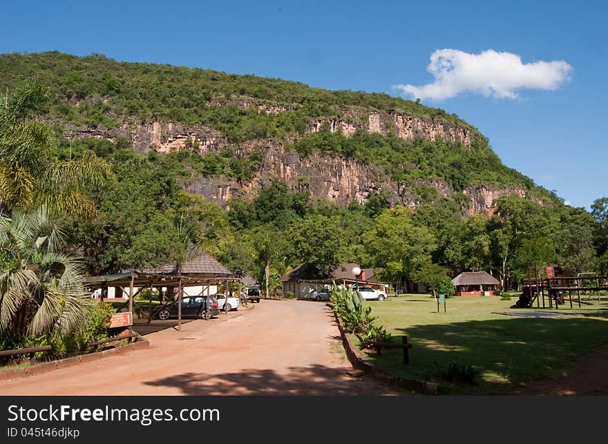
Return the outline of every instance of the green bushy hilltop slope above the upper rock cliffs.
[[[234,75],[213,70],[169,65],[126,63],[103,55],[76,57],[61,52],[0,56],[0,87],[14,85],[32,75],[52,85],[64,101],[58,101],[57,113],[68,117],[101,122],[103,116],[132,115],[142,120],[170,119],[192,124],[211,122],[238,142],[243,139],[280,135],[283,131],[305,131],[310,118],[334,116],[343,108],[359,107],[397,110],[439,122],[466,128],[470,125],[438,108],[416,104],[386,94],[331,91],[310,88],[305,84],[254,75]],[[103,100],[99,100],[106,98]],[[79,110],[66,104],[86,99]],[[265,115],[254,110],[240,110],[238,99],[249,99],[289,108],[281,115]],[[74,113],[74,114],[70,114]],[[256,118],[257,116],[257,118]],[[230,133],[229,126],[240,131]],[[276,127],[273,127],[276,126]],[[278,133],[276,132],[278,131]]]

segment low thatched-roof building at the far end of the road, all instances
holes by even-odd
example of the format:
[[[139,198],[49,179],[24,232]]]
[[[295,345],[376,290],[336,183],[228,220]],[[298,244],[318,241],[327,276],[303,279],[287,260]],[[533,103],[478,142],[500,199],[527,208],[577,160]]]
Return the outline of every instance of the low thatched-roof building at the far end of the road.
[[[340,264],[329,273],[322,273],[316,267],[299,264],[283,276],[283,294],[292,293],[298,299],[308,299],[315,290],[329,289],[332,284],[348,286],[354,284],[352,269],[359,264]],[[359,284],[386,292],[388,283],[374,280],[374,269],[361,269],[357,278]]]

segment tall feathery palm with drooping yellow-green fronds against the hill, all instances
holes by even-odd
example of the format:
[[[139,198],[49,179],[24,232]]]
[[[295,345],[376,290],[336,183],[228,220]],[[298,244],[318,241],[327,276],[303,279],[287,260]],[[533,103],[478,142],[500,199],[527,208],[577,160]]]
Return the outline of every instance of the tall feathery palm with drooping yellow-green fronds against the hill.
[[[53,160],[55,137],[35,119],[48,101],[36,79],[17,86],[0,105],[0,213],[46,204],[50,213],[95,213],[82,189],[104,182],[111,171],[95,156]]]

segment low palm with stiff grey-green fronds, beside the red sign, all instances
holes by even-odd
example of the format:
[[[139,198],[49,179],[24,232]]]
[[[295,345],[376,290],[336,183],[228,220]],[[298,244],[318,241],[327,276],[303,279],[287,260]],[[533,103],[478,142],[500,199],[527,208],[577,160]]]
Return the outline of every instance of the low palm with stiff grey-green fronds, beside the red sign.
[[[0,331],[63,336],[82,328],[93,303],[61,244],[44,206],[0,217]]]

